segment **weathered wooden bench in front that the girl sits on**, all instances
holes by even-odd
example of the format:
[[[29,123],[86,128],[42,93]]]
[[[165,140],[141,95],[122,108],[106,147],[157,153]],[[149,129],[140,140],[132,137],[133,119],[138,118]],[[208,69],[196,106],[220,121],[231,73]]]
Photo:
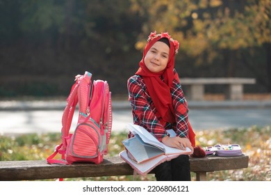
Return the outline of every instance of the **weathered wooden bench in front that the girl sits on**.
[[[197,180],[206,180],[207,172],[247,168],[248,161],[247,155],[238,157],[191,157],[190,169],[196,173]],[[0,180],[6,181],[129,175],[133,175],[133,169],[120,157],[105,157],[101,164],[47,164],[44,160],[0,162]]]

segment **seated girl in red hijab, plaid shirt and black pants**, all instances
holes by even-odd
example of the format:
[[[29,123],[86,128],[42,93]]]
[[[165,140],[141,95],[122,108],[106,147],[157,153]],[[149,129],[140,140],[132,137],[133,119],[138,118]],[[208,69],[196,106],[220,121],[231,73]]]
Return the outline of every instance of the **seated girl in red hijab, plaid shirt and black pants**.
[[[179,76],[174,69],[174,56],[179,42],[168,33],[151,33],[143,52],[140,68],[128,79],[129,101],[133,123],[145,127],[167,146],[193,152],[195,134],[188,121],[188,105]],[[166,130],[173,129],[176,137]],[[129,137],[133,135],[129,133]],[[154,169],[156,180],[191,180],[188,155],[179,155]]]

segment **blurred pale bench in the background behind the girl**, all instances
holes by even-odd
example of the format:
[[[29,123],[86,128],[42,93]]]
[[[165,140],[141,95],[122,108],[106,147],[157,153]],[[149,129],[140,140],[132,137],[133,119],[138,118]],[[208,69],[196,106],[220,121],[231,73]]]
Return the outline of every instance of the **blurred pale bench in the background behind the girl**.
[[[243,85],[256,84],[252,78],[181,78],[181,85],[187,85],[190,100],[204,100],[204,86],[210,84],[226,85],[226,100],[243,100]],[[184,88],[186,89],[186,88]]]

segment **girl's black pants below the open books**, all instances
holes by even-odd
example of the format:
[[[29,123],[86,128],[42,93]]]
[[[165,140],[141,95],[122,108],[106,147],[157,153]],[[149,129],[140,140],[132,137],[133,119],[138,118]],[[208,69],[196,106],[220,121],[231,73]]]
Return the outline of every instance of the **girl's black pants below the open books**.
[[[154,168],[158,181],[190,181],[190,162],[188,155],[179,155],[171,161],[163,162]]]

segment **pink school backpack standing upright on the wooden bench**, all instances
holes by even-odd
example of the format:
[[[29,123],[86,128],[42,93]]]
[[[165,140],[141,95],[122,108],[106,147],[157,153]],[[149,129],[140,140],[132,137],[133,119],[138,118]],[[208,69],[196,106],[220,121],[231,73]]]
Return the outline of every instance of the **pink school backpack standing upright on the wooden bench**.
[[[48,163],[99,164],[107,154],[112,127],[111,93],[107,81],[91,81],[92,74],[77,75],[67,98],[62,117],[62,143],[47,158]],[[69,133],[74,109],[79,102],[79,120],[73,134]],[[62,160],[54,159],[60,153]]]

